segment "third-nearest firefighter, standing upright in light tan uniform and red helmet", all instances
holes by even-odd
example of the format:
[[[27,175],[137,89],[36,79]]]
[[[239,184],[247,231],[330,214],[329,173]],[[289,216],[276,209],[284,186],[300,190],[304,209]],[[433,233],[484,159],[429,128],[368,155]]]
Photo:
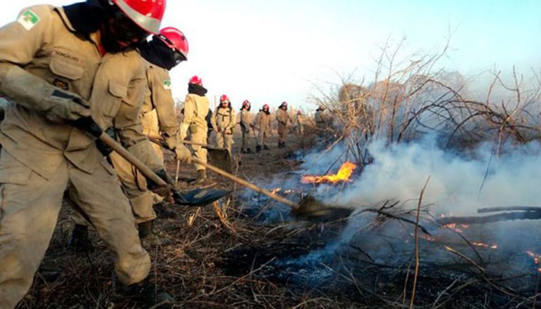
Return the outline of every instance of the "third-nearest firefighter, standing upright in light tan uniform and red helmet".
[[[181,138],[190,133],[190,138],[194,143],[207,144],[207,114],[209,112],[209,99],[205,96],[207,89],[203,86],[203,81],[194,76],[188,82],[188,95],[184,100],[184,118],[181,124]],[[207,149],[192,145],[195,157],[203,162],[207,162]],[[195,184],[203,183],[207,178],[207,169],[200,164],[195,164],[197,169],[197,179]]]

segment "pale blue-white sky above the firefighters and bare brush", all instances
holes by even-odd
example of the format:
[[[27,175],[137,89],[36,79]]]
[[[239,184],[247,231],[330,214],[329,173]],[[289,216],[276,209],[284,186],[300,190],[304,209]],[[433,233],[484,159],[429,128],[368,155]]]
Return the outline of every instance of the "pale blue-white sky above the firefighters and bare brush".
[[[4,0],[0,22],[25,6],[72,2]],[[541,68],[539,0],[169,0],[162,25],[181,29],[190,44],[188,62],[171,71],[174,96],[184,98],[197,74],[211,100],[226,93],[236,109],[245,99],[255,107],[304,105],[313,83],[368,76],[388,38],[434,51],[450,29],[451,50],[439,63],[447,70]]]

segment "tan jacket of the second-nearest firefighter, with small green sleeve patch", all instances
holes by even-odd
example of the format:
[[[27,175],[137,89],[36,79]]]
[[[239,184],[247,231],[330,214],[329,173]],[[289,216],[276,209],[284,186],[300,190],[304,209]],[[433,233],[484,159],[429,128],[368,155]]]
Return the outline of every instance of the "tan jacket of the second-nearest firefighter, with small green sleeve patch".
[[[176,120],[175,101],[171,93],[171,77],[169,71],[147,60],[146,65],[147,88],[143,102],[143,114],[156,110],[158,116],[159,132],[171,138],[171,145],[178,143],[178,121]],[[151,130],[151,124],[143,123],[143,130]],[[169,143],[169,142],[168,142]]]

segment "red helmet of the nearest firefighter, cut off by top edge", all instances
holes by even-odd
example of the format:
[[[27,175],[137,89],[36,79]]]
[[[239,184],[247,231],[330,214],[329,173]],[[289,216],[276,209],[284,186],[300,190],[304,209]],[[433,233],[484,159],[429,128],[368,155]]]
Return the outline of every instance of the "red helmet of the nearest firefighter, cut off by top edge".
[[[166,0],[112,0],[120,11],[145,31],[158,34]]]

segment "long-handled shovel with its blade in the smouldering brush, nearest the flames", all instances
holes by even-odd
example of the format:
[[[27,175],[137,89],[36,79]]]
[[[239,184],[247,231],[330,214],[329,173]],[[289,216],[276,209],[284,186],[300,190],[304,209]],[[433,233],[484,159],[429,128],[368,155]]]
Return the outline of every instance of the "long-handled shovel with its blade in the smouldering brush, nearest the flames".
[[[235,181],[235,183],[238,183],[239,185],[243,185],[250,190],[254,190],[255,192],[259,192],[263,195],[271,197],[271,199],[274,199],[275,201],[286,204],[287,206],[291,207],[291,212],[294,216],[311,218],[315,221],[336,221],[347,218],[351,214],[351,212],[353,212],[353,209],[325,204],[309,195],[307,197],[304,197],[300,203],[295,203],[289,199],[286,199],[285,197],[281,197],[280,195],[276,195],[271,191],[254,185],[253,183],[249,183],[247,180],[238,178],[237,176],[223,171],[216,166],[212,166],[211,164],[202,162],[197,158],[192,158],[192,161],[204,166],[211,171],[214,171],[214,173],[217,173],[223,177]]]

